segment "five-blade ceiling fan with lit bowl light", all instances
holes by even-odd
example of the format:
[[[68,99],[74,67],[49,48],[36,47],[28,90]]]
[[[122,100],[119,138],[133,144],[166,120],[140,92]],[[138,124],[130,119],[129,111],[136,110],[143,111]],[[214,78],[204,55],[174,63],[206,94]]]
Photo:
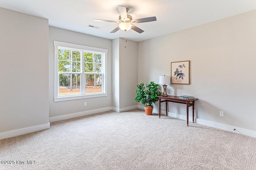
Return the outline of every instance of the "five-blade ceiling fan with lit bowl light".
[[[122,29],[123,31],[128,31],[129,29],[133,29],[134,31],[138,33],[143,33],[144,31],[135,25],[132,25],[132,23],[142,23],[142,22],[151,22],[156,21],[156,17],[148,17],[148,18],[140,18],[137,20],[132,20],[132,16],[127,15],[128,8],[125,6],[118,6],[118,10],[120,13],[120,16],[118,18],[118,21],[109,21],[109,20],[99,20],[99,19],[93,19],[94,21],[103,21],[103,22],[114,22],[119,23],[118,27],[116,27],[113,31],[110,33],[115,33],[119,29]]]

